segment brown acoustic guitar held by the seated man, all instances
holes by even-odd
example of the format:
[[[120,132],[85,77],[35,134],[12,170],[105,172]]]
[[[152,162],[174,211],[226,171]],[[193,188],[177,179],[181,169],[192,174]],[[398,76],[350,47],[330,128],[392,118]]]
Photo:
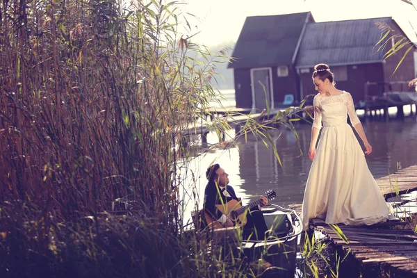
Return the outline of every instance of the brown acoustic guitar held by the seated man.
[[[274,190],[266,191],[265,195],[265,197],[267,197],[269,200],[275,199],[275,197],[277,196]],[[241,201],[232,199],[225,204],[216,204],[215,206],[224,215],[226,215],[228,218],[234,221],[238,227],[242,227],[247,222],[245,211],[248,211],[251,208],[261,204],[261,199],[257,199],[256,201],[251,202],[246,206],[242,206],[241,203]],[[213,215],[211,215],[209,211],[206,211],[206,213],[204,213],[204,218],[206,219],[208,227],[211,227],[211,229],[218,229],[223,227],[222,224],[218,222],[218,220],[215,220],[215,218],[213,217]]]

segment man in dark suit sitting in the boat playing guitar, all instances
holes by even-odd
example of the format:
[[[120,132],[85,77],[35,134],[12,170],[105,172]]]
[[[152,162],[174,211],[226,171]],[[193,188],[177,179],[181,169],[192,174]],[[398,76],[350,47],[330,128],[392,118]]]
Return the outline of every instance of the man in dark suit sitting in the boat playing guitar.
[[[219,164],[213,164],[207,168],[206,178],[208,183],[204,191],[204,212],[207,222],[211,219],[213,222],[217,222],[215,223],[217,226],[221,225],[221,227],[234,227],[235,224],[243,225],[243,238],[263,240],[268,227],[259,209],[268,204],[268,198],[261,196],[259,206],[252,208],[247,214],[243,213],[246,224],[245,222],[241,223],[236,218],[232,220],[231,215],[224,210],[225,204],[228,202],[232,200],[240,202],[240,198],[236,197],[234,189],[228,186],[229,174],[224,172]]]

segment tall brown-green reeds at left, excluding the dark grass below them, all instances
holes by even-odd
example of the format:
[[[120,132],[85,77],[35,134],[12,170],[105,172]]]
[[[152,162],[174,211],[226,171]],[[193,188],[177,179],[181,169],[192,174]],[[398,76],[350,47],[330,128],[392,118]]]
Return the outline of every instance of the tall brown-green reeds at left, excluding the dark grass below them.
[[[174,2],[122,3],[3,3],[0,195],[65,218],[127,198],[174,228],[177,143],[212,65],[187,56]]]

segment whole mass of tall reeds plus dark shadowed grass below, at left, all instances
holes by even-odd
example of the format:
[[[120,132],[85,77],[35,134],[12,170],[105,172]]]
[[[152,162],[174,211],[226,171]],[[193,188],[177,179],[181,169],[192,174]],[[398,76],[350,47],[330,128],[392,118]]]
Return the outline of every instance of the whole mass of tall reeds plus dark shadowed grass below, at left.
[[[178,5],[0,3],[1,277],[246,271],[236,250],[204,252],[199,234],[181,234],[188,129],[228,57],[179,34]],[[289,114],[248,121],[241,136],[272,142],[266,124],[293,127]]]

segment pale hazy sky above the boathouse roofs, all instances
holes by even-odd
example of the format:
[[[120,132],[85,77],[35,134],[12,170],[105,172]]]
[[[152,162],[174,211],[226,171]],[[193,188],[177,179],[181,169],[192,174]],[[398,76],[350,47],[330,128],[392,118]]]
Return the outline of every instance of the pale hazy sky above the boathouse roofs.
[[[413,0],[416,1],[416,0]],[[393,17],[411,37],[417,11],[401,0],[182,0],[181,10],[198,17],[190,25],[201,31],[193,39],[207,46],[236,41],[247,16],[311,11],[316,22]],[[190,19],[190,17],[188,17]],[[416,41],[416,38],[411,38]]]

